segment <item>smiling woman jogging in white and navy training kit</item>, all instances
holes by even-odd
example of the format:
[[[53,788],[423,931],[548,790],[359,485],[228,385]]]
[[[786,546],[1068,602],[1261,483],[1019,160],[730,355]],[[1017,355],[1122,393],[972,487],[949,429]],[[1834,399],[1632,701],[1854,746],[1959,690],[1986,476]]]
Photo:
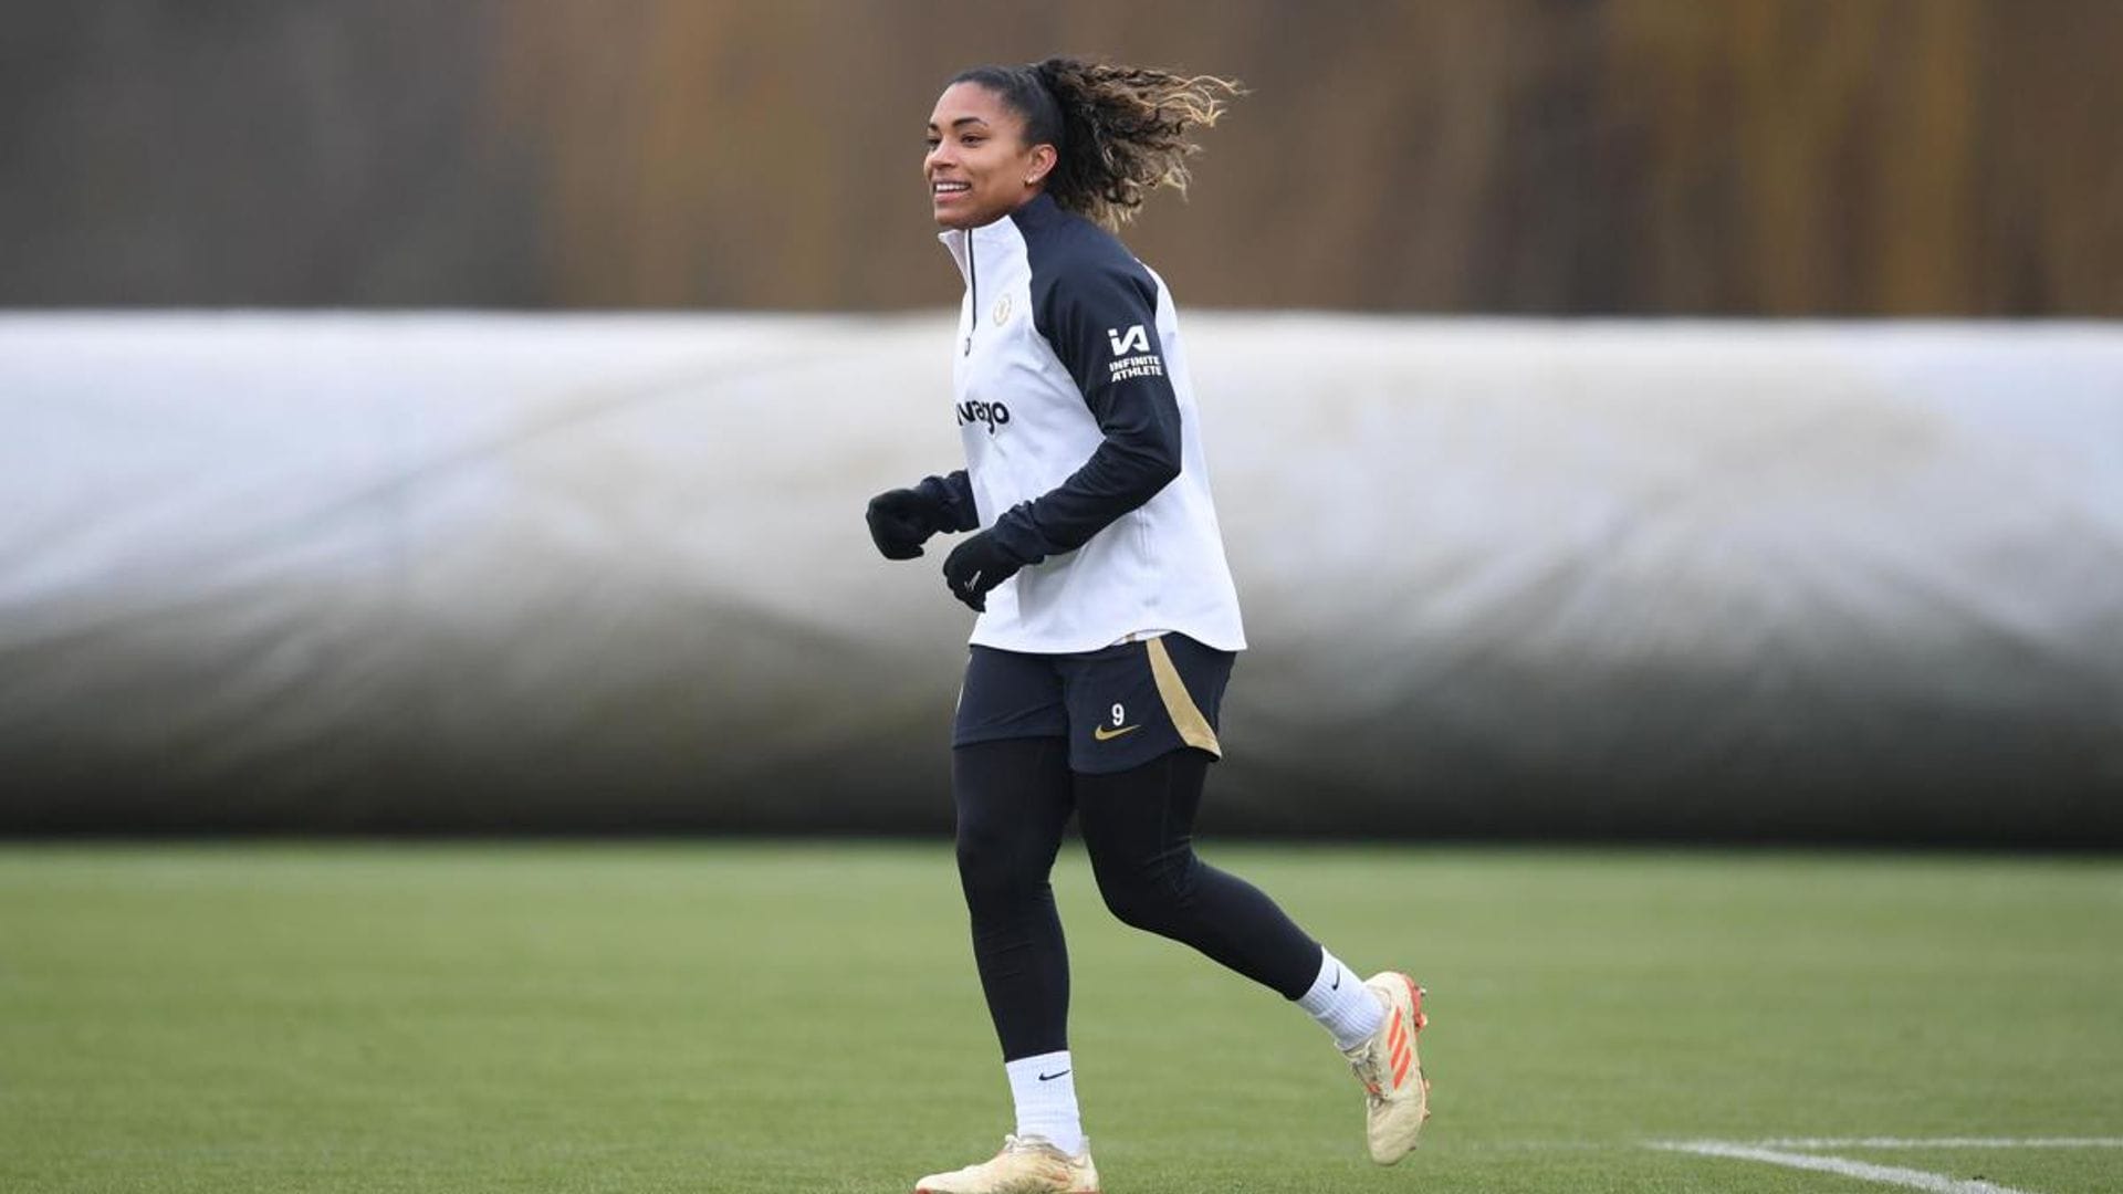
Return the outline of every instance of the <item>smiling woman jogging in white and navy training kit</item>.
[[[1115,238],[1187,189],[1189,134],[1231,83],[1051,57],[951,79],[921,172],[966,276],[955,412],[966,467],[870,501],[885,559],[945,559],[981,612],[951,731],[957,869],[1017,1130],[926,1194],[1093,1194],[1068,1050],[1068,952],[1047,875],[1076,816],[1123,922],[1295,1001],[1367,1092],[1371,1160],[1429,1118],[1422,990],[1359,982],[1250,884],[1204,865],[1193,820],[1246,646],[1193,385],[1163,280]]]

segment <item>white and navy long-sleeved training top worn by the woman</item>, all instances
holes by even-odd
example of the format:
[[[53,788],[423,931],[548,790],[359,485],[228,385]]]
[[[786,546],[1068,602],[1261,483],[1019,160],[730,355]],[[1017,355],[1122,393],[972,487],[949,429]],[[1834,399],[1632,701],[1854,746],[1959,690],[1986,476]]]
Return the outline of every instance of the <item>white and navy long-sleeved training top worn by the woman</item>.
[[[940,236],[966,276],[953,397],[966,467],[921,489],[1023,567],[972,642],[1062,654],[1136,631],[1242,650],[1172,293],[1106,229],[1036,195]]]

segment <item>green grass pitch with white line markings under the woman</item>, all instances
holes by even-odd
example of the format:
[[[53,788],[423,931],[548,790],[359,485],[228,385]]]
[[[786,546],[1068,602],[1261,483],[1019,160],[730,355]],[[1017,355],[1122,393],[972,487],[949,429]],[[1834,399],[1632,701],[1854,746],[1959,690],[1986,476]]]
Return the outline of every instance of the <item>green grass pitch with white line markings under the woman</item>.
[[[1066,852],[1112,1194],[2123,1190],[2123,860],[1206,856],[1431,988],[1437,1115],[1371,1166],[1325,1033]],[[0,848],[11,1194],[883,1194],[1006,1128],[945,846]]]

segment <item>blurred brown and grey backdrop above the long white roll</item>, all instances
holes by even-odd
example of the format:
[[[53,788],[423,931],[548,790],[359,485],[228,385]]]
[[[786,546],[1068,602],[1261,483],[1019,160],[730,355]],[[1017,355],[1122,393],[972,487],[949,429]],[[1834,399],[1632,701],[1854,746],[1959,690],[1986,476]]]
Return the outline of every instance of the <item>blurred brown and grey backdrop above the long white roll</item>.
[[[81,0],[0,40],[0,304],[955,300],[960,66],[1242,79],[1189,306],[2123,314],[2115,0]]]

